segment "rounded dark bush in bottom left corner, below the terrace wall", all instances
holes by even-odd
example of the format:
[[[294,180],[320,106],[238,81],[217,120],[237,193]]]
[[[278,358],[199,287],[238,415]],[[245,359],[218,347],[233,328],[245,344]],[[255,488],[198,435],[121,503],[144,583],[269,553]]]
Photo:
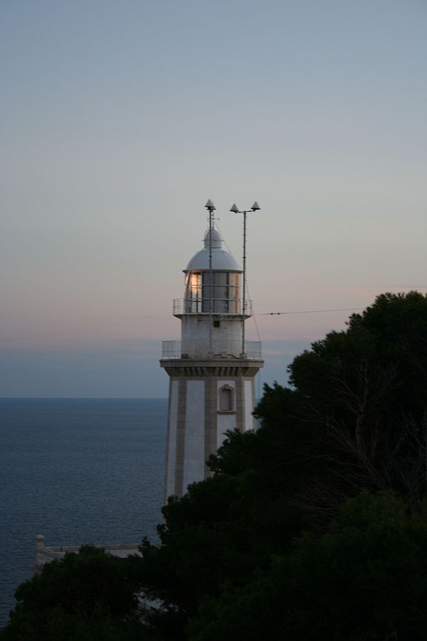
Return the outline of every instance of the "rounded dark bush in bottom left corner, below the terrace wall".
[[[1,640],[133,641],[146,635],[135,620],[128,559],[83,546],[44,566],[16,590],[15,610]]]

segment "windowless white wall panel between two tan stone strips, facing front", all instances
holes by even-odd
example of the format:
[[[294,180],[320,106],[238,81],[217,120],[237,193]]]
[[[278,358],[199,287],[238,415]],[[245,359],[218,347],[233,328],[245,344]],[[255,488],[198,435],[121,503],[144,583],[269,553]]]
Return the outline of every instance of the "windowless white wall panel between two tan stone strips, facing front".
[[[184,437],[184,489],[186,489],[190,483],[204,479],[204,388],[204,380],[187,381]]]

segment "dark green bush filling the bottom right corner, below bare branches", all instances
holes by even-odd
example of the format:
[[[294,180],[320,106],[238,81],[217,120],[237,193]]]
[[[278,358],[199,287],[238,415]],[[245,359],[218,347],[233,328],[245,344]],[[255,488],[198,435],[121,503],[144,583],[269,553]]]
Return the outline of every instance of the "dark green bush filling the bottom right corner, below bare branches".
[[[391,494],[351,499],[330,533],[297,538],[242,588],[205,599],[191,641],[427,637],[427,518]]]

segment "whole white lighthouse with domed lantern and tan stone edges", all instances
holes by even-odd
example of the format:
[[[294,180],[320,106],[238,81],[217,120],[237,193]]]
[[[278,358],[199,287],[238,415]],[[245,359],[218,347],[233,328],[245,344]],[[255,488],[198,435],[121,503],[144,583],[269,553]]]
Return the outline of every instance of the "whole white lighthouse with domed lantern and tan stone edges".
[[[251,301],[243,296],[240,266],[212,224],[211,201],[206,207],[204,247],[184,269],[184,298],[174,300],[181,340],[162,343],[160,365],[170,377],[166,497],[182,496],[190,483],[209,476],[206,460],[228,429],[255,427],[261,345],[244,338]]]

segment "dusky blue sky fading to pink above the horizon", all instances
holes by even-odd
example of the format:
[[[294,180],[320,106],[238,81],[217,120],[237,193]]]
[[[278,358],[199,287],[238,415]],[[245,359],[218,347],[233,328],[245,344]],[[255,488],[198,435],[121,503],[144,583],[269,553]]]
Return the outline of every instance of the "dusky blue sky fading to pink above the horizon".
[[[426,32],[426,0],[2,1],[0,396],[167,397],[207,199],[239,262],[261,207],[259,386],[320,310],[427,292]]]

